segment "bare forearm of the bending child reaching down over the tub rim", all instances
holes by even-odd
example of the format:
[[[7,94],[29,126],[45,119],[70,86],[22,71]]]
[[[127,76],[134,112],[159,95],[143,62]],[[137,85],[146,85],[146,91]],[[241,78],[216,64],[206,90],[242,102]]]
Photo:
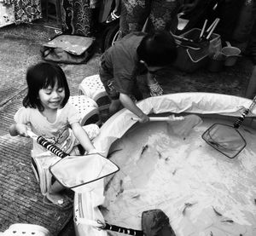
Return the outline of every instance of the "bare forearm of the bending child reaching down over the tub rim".
[[[125,108],[127,108],[128,110],[136,114],[138,118],[140,118],[140,123],[148,122],[148,116],[143,113],[143,111],[139,107],[136,106],[136,104],[131,100],[131,97],[129,95],[120,93],[119,100],[121,101],[123,106],[125,106]]]

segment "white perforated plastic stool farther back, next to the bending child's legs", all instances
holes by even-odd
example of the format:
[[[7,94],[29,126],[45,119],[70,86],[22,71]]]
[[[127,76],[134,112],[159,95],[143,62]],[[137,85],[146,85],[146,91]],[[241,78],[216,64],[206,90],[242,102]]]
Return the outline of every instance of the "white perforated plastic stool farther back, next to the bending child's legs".
[[[96,101],[99,110],[107,109],[110,100],[98,74],[84,78],[79,84],[79,95],[86,95]]]

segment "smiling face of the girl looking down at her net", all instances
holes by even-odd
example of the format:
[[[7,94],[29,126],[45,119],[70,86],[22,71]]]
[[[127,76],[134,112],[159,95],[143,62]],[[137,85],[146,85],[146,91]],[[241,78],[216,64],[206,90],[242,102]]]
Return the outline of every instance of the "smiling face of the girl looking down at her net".
[[[53,88],[48,86],[45,89],[39,89],[38,96],[44,109],[56,110],[61,108],[61,103],[65,98],[65,89],[58,87],[55,83]]]

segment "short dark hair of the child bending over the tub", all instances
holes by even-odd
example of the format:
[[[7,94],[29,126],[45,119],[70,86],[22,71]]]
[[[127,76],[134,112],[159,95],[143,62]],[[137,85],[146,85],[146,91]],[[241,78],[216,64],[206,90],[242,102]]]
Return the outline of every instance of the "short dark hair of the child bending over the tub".
[[[148,66],[169,66],[177,58],[175,39],[166,31],[147,34],[137,47],[137,55]]]

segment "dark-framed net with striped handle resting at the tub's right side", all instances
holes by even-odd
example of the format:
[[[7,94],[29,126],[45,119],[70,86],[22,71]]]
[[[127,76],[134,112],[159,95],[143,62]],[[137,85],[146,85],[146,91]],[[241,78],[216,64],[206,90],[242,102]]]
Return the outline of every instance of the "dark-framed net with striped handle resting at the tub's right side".
[[[253,98],[251,106],[242,112],[241,117],[237,118],[233,126],[218,123],[212,124],[212,126],[201,136],[203,140],[228,158],[235,158],[241,153],[243,148],[247,146],[247,141],[243,138],[238,129],[244,118],[253,109],[255,103],[256,96]]]

